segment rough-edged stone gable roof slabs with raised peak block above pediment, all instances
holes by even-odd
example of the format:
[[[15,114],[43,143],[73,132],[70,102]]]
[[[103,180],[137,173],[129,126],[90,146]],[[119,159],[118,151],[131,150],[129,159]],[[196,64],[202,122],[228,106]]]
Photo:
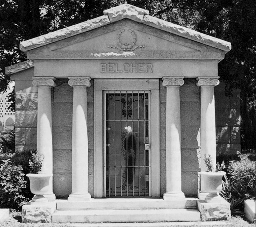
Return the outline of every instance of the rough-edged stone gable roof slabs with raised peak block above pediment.
[[[208,46],[212,46],[214,48],[223,50],[225,53],[231,50],[230,42],[224,41],[219,38],[214,38],[200,32],[196,32],[194,30],[158,19],[153,16],[149,16],[148,10],[144,10],[129,4],[123,4],[104,10],[103,13],[103,16],[99,16],[97,18],[72,25],[70,27],[63,28],[55,32],[50,32],[43,36],[23,41],[20,43],[20,50],[27,52],[37,47],[44,46],[46,44],[56,42],[58,40],[65,39],[71,36],[75,36],[80,33],[84,33],[95,28],[113,23],[115,21],[122,20],[124,18],[128,18],[187,39],[191,39]]]

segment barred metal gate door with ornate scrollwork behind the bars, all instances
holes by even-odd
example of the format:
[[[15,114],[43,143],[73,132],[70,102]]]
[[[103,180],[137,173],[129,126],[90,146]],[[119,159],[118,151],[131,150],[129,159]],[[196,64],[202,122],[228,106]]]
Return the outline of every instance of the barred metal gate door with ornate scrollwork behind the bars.
[[[104,196],[150,196],[150,92],[104,92]]]

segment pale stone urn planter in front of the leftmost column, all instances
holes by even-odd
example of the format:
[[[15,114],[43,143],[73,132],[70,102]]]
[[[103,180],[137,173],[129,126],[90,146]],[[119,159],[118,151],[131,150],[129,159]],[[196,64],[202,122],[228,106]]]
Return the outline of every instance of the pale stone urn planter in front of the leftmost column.
[[[50,179],[52,173],[28,173],[26,175],[30,182],[30,191],[35,194],[33,202],[48,201],[43,195],[51,193]]]

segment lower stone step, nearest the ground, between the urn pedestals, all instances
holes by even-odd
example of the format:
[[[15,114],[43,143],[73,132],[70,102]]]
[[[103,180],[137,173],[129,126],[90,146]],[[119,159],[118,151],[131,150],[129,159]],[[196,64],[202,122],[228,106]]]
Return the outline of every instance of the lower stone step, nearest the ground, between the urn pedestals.
[[[200,221],[197,209],[129,209],[55,211],[53,223]]]

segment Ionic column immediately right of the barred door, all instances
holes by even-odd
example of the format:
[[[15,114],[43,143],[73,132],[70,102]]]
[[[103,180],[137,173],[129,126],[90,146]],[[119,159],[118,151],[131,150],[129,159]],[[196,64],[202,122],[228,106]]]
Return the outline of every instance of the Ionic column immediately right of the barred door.
[[[181,190],[180,86],[184,77],[163,77],[166,86],[166,192],[165,200],[184,199]]]

